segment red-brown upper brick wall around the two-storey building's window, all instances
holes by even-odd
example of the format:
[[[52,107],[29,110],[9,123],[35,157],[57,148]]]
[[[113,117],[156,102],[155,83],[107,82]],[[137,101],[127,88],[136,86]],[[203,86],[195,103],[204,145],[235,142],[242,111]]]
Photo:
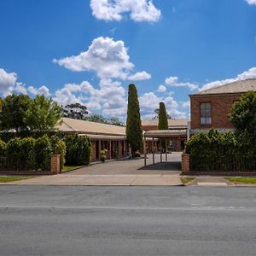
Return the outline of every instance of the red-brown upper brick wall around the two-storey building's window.
[[[239,100],[241,94],[192,95],[190,96],[191,129],[203,128],[234,128],[228,114],[233,102]],[[212,102],[212,124],[201,125],[200,103]]]

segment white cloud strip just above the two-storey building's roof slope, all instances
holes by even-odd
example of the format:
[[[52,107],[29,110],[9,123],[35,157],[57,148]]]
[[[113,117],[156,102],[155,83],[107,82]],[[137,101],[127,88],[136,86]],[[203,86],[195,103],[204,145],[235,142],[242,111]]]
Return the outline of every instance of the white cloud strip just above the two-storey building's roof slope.
[[[233,79],[216,80],[216,81],[204,84],[201,87],[200,91],[208,90],[208,89],[211,89],[216,86],[220,86],[223,84],[230,84],[230,83],[236,82],[238,80],[244,80],[244,79],[256,79],[256,67],[252,67],[252,68],[248,69],[247,71],[238,74],[236,76],[236,78],[233,78]]]

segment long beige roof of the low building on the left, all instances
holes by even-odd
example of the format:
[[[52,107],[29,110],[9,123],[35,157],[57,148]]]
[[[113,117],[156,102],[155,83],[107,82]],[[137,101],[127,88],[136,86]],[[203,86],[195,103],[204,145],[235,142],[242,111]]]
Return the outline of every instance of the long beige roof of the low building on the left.
[[[125,127],[123,126],[107,125],[78,119],[63,118],[61,125],[58,125],[56,128],[64,132],[125,136]]]

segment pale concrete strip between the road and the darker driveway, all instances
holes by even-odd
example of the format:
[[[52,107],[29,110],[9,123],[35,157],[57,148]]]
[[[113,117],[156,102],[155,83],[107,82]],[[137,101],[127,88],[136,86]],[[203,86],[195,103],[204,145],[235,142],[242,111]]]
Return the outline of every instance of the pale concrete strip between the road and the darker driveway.
[[[0,183],[1,184],[1,183]],[[5,183],[6,184],[6,183]],[[80,185],[80,186],[178,186],[178,176],[166,174],[131,175],[72,175],[41,176],[8,184],[22,185]]]

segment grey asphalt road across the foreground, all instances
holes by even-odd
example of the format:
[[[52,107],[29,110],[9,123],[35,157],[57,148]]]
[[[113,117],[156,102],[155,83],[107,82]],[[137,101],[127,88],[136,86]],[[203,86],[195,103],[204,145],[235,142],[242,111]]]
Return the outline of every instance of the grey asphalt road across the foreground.
[[[1,255],[256,255],[256,190],[0,186]]]

